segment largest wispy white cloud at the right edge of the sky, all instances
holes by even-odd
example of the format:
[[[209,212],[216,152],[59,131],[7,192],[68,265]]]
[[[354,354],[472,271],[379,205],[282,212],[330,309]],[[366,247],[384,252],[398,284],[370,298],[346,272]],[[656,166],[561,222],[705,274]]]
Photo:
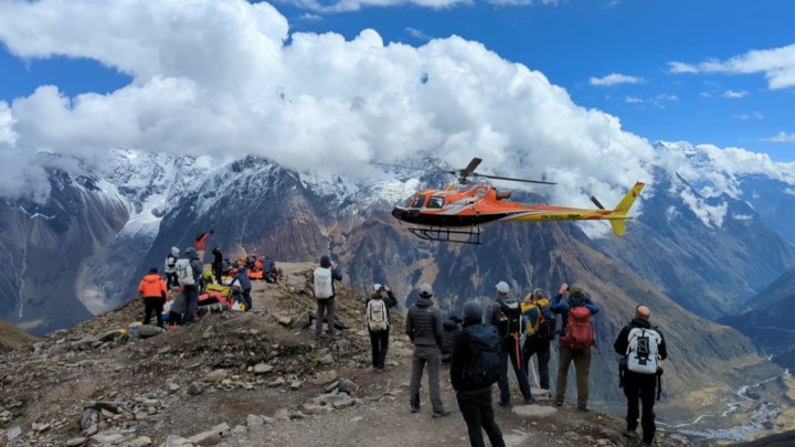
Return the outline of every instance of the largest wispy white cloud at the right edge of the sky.
[[[763,73],[771,89],[795,86],[795,44],[771,50],[753,50],[727,61],[709,60],[699,64],[668,63],[670,72],[681,73]]]

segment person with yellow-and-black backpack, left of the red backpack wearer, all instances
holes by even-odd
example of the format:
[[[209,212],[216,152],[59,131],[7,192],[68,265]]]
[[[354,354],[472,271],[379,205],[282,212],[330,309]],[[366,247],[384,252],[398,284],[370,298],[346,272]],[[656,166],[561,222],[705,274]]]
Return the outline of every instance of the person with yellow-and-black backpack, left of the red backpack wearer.
[[[549,315],[549,299],[544,289],[536,289],[524,297],[521,304],[522,317],[526,321],[527,336],[522,345],[522,358],[524,359],[524,371],[530,374],[531,359],[537,356],[539,369],[539,385],[542,390],[549,391],[549,360],[550,341],[554,333],[555,321],[544,321],[553,318]],[[547,312],[544,312],[547,310]],[[544,316],[547,313],[547,316]],[[542,322],[548,324],[543,330]],[[549,328],[549,324],[552,328]],[[549,333],[549,331],[552,333]]]

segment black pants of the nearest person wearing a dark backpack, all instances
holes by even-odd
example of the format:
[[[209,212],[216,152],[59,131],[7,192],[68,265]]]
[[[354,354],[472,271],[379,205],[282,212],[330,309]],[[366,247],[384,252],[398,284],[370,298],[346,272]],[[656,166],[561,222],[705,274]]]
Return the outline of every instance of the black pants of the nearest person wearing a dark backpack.
[[[494,418],[491,386],[473,391],[459,391],[456,393],[456,400],[464,416],[464,422],[467,424],[469,445],[473,447],[486,447],[480,429],[483,427],[492,447],[505,447],[502,432],[500,432]]]

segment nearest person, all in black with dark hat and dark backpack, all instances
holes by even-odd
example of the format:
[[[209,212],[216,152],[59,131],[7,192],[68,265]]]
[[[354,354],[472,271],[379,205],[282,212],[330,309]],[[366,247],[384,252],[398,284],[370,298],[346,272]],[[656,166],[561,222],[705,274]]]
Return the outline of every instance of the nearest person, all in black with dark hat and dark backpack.
[[[453,358],[451,359],[451,382],[453,390],[456,392],[456,401],[458,408],[464,416],[469,433],[469,444],[473,447],[485,447],[481,429],[486,430],[486,435],[494,447],[504,447],[502,432],[500,432],[494,416],[494,405],[491,401],[491,382],[494,379],[487,379],[485,382],[478,381],[477,375],[467,371],[468,368],[477,364],[486,364],[486,355],[496,356],[497,374],[504,374],[499,362],[499,351],[501,340],[497,328],[491,324],[483,323],[483,309],[480,304],[475,300],[467,301],[464,305],[464,329],[462,337],[456,340],[453,348]],[[473,350],[471,345],[478,342],[478,347],[486,349]],[[474,359],[474,356],[478,359]],[[491,383],[488,383],[491,382]]]

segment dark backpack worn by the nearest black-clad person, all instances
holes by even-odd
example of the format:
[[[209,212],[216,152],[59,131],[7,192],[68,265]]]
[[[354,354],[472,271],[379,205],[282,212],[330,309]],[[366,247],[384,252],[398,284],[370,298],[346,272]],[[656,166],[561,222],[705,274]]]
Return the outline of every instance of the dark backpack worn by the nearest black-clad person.
[[[469,360],[462,371],[462,380],[470,390],[492,385],[502,375],[500,334],[494,326],[476,324],[464,331],[462,343],[469,343]]]

